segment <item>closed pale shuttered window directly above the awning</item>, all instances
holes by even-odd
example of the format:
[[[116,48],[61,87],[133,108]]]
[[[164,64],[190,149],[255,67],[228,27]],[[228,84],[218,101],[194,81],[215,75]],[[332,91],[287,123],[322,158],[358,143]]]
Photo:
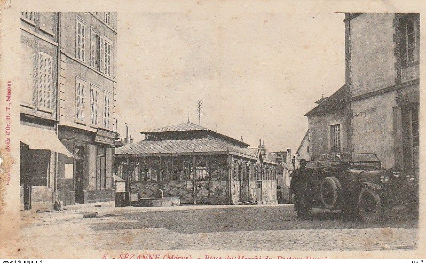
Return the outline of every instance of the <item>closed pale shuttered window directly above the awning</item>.
[[[38,53],[38,107],[52,109],[52,56]]]

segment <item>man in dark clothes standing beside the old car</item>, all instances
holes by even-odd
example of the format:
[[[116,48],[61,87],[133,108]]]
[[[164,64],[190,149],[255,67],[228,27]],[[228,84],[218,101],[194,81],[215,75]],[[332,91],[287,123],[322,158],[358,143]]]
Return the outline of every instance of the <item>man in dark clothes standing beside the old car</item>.
[[[305,218],[312,210],[312,175],[306,168],[306,160],[300,160],[300,167],[291,174],[290,193],[294,193],[294,207],[297,217]]]

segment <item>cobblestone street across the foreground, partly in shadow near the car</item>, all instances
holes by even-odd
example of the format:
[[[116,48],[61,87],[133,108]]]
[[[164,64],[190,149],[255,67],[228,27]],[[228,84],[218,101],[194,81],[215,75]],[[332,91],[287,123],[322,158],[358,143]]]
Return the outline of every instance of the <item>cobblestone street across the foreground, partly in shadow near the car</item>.
[[[72,230],[69,227],[74,227]],[[365,224],[340,212],[315,209],[300,220],[292,205],[122,209],[115,214],[23,228],[24,248],[128,250],[409,250],[417,248],[417,220],[388,215]],[[55,236],[52,236],[52,233]],[[25,252],[22,252],[25,253]]]

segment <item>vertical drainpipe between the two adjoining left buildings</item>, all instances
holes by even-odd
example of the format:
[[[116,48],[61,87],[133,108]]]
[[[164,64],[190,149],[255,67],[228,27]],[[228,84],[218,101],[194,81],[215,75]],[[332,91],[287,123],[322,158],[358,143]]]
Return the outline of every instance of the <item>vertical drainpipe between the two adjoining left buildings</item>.
[[[58,49],[57,49],[57,83],[56,83],[56,125],[55,125],[55,133],[59,138],[59,104],[60,104],[60,12],[58,12],[58,26],[57,26],[57,34],[58,38]],[[56,193],[58,191],[58,152],[55,152],[55,177],[54,177],[54,184],[53,184],[53,191]]]

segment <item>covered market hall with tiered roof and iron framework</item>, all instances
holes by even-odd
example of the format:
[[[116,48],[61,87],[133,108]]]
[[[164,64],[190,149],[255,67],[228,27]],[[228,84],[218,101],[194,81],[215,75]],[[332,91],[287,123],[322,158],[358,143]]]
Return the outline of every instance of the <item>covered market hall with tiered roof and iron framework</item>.
[[[276,154],[193,123],[141,132],[116,149],[117,175],[131,196],[179,197],[181,204],[276,204]]]

